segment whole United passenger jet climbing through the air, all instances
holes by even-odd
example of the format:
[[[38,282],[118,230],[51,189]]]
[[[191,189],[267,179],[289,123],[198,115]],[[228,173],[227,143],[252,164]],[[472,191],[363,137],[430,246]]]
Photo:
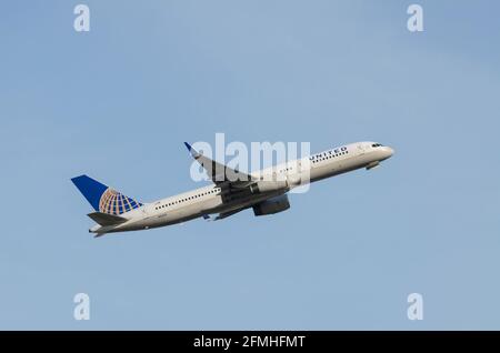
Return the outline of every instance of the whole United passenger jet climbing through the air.
[[[72,178],[96,211],[88,214],[97,223],[89,232],[101,236],[198,218],[222,220],[250,208],[257,216],[274,214],[290,208],[287,195],[290,190],[353,170],[373,169],[394,153],[390,147],[377,142],[356,142],[248,174],[209,159],[187,142],[184,144],[207,171],[211,185],[141,203],[84,174]]]

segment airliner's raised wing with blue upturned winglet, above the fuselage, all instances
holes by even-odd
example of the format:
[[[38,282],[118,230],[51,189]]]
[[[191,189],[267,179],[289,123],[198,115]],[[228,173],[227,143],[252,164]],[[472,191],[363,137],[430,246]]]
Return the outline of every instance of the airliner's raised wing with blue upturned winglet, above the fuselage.
[[[197,160],[201,167],[204,168],[207,174],[217,185],[222,183],[230,183],[231,186],[247,186],[251,184],[256,179],[247,173],[233,170],[224,164],[216,162],[202,153],[194,150],[188,142],[184,142],[192,158]]]

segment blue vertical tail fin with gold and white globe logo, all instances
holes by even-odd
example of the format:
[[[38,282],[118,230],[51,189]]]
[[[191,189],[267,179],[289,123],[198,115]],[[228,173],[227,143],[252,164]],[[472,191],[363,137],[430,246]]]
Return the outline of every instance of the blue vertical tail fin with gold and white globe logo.
[[[142,205],[87,175],[72,178],[71,181],[97,212],[122,214]]]

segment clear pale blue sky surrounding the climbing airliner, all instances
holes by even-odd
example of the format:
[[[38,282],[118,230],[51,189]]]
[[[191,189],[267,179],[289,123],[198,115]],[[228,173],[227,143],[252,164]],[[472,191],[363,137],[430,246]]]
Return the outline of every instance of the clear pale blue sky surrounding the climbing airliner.
[[[87,3],[91,31],[77,33]],[[424,32],[407,30],[407,7]],[[500,329],[498,1],[8,1],[0,329]],[[182,141],[397,154],[242,212],[93,239],[70,178],[141,201]],[[73,320],[73,295],[91,320]],[[424,319],[407,319],[407,295]]]

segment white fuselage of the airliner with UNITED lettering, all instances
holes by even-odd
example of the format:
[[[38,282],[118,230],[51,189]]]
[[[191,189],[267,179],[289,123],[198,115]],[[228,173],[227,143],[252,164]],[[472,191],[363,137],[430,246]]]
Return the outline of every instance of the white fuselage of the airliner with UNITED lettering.
[[[207,214],[250,208],[308,182],[360,168],[370,169],[380,161],[390,158],[393,153],[393,150],[389,147],[378,145],[374,148],[373,145],[376,145],[374,142],[351,143],[251,173],[256,178],[300,181],[287,183],[286,188],[279,190],[252,193],[244,189],[241,192],[234,192],[223,184],[209,185],[143,204],[136,210],[121,214],[121,216],[128,219],[124,223],[110,226],[96,225],[89,231],[101,234],[151,229],[189,221]]]

